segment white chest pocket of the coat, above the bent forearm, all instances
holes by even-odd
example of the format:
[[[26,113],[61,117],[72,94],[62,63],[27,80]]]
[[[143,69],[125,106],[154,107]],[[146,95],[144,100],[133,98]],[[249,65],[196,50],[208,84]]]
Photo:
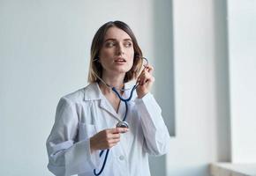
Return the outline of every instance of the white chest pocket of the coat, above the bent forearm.
[[[79,140],[88,139],[96,134],[96,128],[92,124],[79,123]]]

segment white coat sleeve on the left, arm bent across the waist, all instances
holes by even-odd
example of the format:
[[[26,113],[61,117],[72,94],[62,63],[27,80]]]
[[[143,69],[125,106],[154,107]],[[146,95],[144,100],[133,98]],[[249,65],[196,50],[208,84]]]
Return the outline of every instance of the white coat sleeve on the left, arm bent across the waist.
[[[90,151],[90,140],[77,142],[79,117],[69,99],[60,99],[56,119],[46,142],[49,171],[56,176],[92,172],[99,163],[99,153]]]

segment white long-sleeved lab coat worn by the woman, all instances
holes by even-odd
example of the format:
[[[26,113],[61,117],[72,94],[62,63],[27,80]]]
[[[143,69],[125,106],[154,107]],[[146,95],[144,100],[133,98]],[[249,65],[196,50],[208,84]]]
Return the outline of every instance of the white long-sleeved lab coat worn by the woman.
[[[130,92],[124,92],[124,98]],[[134,92],[126,117],[130,130],[109,150],[102,176],[150,176],[148,154],[159,156],[169,150],[169,132],[161,112],[151,93],[137,99]],[[91,153],[89,138],[115,128],[124,114],[125,103],[121,101],[116,112],[96,83],[61,98],[46,143],[49,171],[57,176],[93,176],[94,169],[99,172],[106,150],[101,158],[100,150]]]

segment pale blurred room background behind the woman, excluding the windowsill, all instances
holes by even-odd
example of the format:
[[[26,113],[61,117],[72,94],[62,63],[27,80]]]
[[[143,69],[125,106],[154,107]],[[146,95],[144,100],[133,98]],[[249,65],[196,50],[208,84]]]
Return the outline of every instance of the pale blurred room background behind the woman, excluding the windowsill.
[[[0,0],[0,175],[52,175],[56,104],[87,85],[94,33],[113,20],[154,65],[171,147],[152,175],[256,163],[255,0]]]

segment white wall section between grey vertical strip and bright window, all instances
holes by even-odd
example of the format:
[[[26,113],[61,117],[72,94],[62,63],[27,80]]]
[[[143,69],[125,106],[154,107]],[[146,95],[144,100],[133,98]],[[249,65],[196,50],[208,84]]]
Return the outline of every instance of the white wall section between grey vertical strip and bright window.
[[[177,136],[168,175],[207,176],[209,163],[230,160],[225,2],[174,0],[173,10]]]

